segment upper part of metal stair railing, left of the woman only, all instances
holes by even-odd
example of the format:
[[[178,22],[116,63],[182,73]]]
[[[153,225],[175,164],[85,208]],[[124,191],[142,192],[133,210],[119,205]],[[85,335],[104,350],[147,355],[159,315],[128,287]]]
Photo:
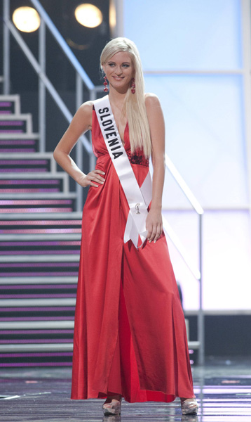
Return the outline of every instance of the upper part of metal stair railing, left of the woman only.
[[[27,46],[26,42],[20,35],[20,32],[15,28],[10,19],[10,0],[4,0],[4,94],[9,94],[10,91],[10,34],[12,34],[15,41],[17,41],[20,49],[25,53],[29,63],[34,68],[39,77],[39,135],[40,135],[40,152],[46,151],[46,89],[50,96],[55,101],[57,107],[65,116],[67,122],[72,121],[72,113],[70,113],[64,101],[58,94],[57,90],[48,79],[46,75],[46,28],[53,35],[55,41],[62,49],[63,53],[72,64],[76,71],[76,109],[83,103],[83,85],[88,89],[89,98],[95,99],[96,93],[100,90],[95,87],[86,72],[83,70],[81,64],[72,53],[67,42],[57,30],[53,21],[48,16],[38,0],[30,0],[33,6],[38,11],[41,18],[41,25],[39,27],[39,60],[36,60],[34,54]],[[83,148],[89,156],[89,168],[95,167],[95,156],[93,149],[85,135],[81,136],[81,142],[76,143],[76,165],[83,168]],[[76,209],[81,211],[83,208],[83,188],[76,184]]]

